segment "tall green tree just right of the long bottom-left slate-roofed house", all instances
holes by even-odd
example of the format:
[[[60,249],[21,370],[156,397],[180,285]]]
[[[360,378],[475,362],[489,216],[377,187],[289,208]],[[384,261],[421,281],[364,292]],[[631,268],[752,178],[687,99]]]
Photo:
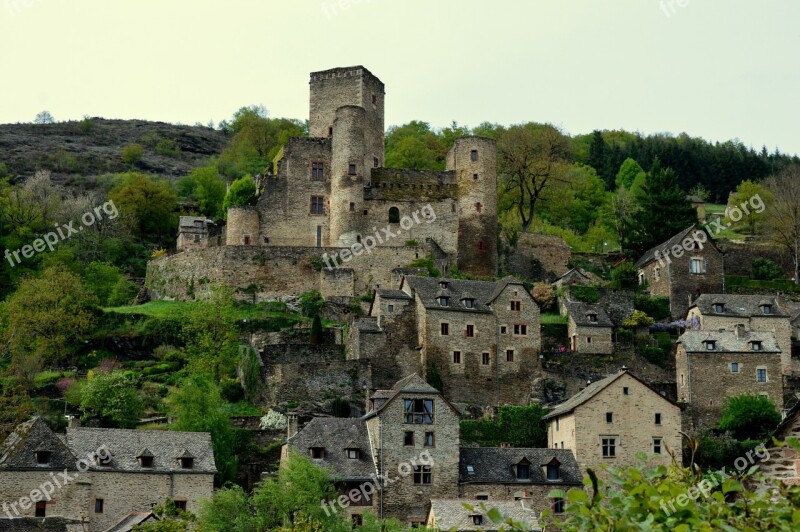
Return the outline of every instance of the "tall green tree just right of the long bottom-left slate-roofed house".
[[[210,433],[217,485],[233,481],[238,464],[237,437],[219,387],[206,376],[192,375],[170,392],[166,402],[170,416],[175,418],[170,430]]]

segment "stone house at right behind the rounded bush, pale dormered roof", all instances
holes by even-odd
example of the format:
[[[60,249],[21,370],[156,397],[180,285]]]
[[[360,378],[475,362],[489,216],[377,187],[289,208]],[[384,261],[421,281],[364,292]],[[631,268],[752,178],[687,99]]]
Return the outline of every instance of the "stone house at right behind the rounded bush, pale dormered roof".
[[[686,331],[675,354],[678,400],[689,405],[693,424],[707,427],[716,426],[728,397],[765,395],[781,409],[781,357],[772,332]]]

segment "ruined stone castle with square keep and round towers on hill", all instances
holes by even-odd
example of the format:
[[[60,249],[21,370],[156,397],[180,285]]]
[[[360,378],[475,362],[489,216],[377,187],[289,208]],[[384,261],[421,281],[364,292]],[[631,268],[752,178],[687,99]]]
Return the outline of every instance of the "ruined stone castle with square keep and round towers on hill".
[[[181,220],[188,253],[152,261],[155,297],[215,282],[263,297],[354,296],[396,288],[396,271],[428,256],[443,272],[496,275],[495,141],[457,139],[445,171],[385,168],[384,102],[364,67],[313,72],[309,137],[288,140],[257,204],[230,208],[218,238],[202,218]]]

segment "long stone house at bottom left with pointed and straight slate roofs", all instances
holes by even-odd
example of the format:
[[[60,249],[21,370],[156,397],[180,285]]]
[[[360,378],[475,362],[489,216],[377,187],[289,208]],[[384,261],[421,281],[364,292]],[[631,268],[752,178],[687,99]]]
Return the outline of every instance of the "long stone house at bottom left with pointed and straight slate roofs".
[[[208,433],[70,427],[61,436],[35,418],[3,445],[0,501],[8,518],[57,517],[104,531],[168,498],[197,511],[215,473]]]

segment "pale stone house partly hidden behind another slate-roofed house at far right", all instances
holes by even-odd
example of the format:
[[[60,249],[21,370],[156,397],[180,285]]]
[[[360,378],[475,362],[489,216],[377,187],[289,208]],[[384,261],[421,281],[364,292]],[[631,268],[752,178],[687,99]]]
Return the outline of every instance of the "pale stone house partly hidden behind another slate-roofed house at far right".
[[[701,331],[771,332],[781,350],[781,374],[792,374],[792,326],[788,309],[775,296],[703,294],[689,307],[686,320]],[[776,376],[777,377],[777,376]]]

